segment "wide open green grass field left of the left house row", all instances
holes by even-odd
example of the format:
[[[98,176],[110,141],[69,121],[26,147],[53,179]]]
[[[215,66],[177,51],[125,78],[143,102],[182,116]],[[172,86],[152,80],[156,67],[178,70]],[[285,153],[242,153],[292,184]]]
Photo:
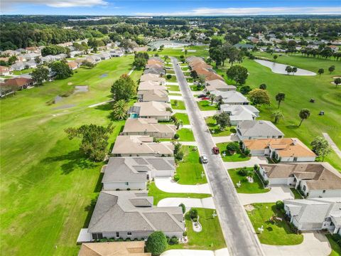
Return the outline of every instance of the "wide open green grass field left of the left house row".
[[[128,73],[132,62],[133,56],[106,60],[0,101],[1,254],[77,255],[75,242],[100,191],[103,163],[87,161],[78,151],[80,140],[67,139],[64,129],[109,124],[110,105],[87,106],[109,100],[112,82]],[[107,77],[99,78],[104,73]],[[134,80],[140,75],[132,73]],[[90,91],[46,104],[75,85],[88,85]],[[123,124],[114,122],[109,146]]]

